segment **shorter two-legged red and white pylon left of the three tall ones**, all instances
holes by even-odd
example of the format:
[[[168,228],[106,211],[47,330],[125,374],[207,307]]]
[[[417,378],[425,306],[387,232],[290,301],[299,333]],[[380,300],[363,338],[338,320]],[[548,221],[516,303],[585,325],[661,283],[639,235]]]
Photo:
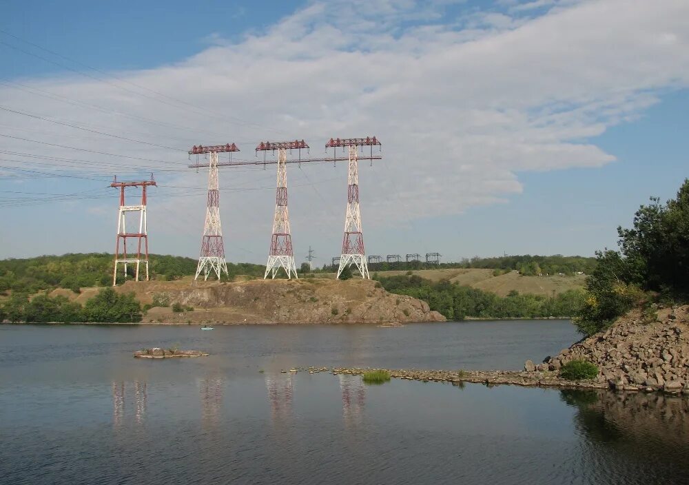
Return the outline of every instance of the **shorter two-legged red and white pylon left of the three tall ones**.
[[[117,177],[114,178],[110,187],[120,189],[120,208],[117,216],[117,236],[115,238],[115,264],[112,271],[112,286],[117,283],[117,268],[119,265],[124,266],[124,276],[127,278],[127,265],[136,265],[134,272],[134,281],[139,280],[139,269],[143,262],[146,270],[146,280],[148,280],[148,229],[146,220],[146,188],[155,186],[156,182],[153,180],[142,180],[140,182],[118,182]],[[141,187],[141,203],[139,205],[125,204],[125,189],[127,187]],[[138,212],[138,232],[127,232],[126,215],[129,212]],[[136,238],[136,258],[127,255],[127,239]],[[141,257],[141,243],[144,243],[145,257]]]

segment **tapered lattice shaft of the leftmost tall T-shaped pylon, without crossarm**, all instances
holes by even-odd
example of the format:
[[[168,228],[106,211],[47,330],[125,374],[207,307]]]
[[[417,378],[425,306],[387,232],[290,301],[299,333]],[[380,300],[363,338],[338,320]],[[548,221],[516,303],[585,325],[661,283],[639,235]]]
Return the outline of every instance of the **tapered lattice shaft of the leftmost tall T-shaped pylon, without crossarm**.
[[[215,273],[218,280],[220,280],[221,273],[227,274],[223,228],[220,226],[220,190],[218,187],[218,152],[210,152],[206,219],[203,225],[201,253],[194,280],[197,280],[201,273],[203,273],[204,280],[207,280],[211,273]]]

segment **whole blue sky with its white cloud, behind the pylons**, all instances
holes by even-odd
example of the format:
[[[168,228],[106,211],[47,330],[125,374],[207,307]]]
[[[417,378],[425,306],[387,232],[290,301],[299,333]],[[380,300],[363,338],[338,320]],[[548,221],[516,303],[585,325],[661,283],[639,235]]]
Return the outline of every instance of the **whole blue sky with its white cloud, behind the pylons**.
[[[112,252],[110,182],[151,173],[150,250],[196,257],[198,144],[378,136],[367,254],[443,261],[616,247],[689,172],[686,0],[7,0],[0,61],[0,258]],[[275,179],[221,169],[228,260],[265,263]],[[346,164],[287,184],[297,265],[329,262]]]

